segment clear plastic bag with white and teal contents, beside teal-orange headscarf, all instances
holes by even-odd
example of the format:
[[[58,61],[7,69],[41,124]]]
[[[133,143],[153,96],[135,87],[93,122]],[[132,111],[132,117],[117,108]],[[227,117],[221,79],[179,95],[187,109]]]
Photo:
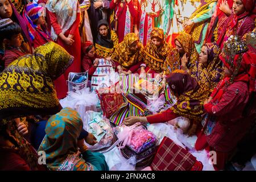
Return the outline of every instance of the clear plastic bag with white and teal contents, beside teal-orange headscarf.
[[[109,119],[103,117],[101,113],[87,111],[85,114],[84,129],[92,133],[97,138],[96,144],[90,146],[86,143],[89,150],[99,151],[110,147],[114,142],[114,135]]]

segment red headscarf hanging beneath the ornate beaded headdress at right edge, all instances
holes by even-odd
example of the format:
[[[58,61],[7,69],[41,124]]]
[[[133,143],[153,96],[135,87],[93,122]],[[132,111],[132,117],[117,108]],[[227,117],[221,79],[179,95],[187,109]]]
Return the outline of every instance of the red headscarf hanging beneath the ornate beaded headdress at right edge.
[[[237,61],[240,55],[234,57],[234,69],[237,67]],[[225,56],[220,55],[221,61],[225,64],[227,68],[230,69],[230,65],[226,63]],[[234,72],[233,69],[230,71]],[[234,78],[234,81],[245,81],[249,82],[249,91],[256,92],[256,53],[247,51],[242,54],[241,67],[238,71],[238,75]]]

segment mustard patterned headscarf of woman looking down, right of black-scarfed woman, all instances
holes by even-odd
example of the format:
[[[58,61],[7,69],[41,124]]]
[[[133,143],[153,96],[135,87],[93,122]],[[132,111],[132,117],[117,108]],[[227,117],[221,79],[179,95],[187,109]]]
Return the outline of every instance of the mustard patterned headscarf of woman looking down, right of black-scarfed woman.
[[[118,62],[123,68],[130,68],[131,66],[142,61],[144,48],[141,43],[138,43],[138,49],[134,51],[131,45],[139,41],[139,38],[134,33],[125,35],[125,38],[118,44],[112,54],[112,60]]]

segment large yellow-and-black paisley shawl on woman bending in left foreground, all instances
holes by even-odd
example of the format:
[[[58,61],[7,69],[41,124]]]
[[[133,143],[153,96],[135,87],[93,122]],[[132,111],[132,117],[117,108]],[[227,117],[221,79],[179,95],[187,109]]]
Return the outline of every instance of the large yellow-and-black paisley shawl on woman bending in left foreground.
[[[0,124],[27,115],[57,113],[60,104],[53,80],[72,61],[73,57],[54,42],[13,61],[0,74]]]

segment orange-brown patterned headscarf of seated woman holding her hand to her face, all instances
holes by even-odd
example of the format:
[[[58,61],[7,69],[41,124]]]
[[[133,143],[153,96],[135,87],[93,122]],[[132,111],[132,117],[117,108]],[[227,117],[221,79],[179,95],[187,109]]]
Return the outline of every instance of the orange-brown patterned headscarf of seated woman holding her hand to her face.
[[[187,54],[187,57],[189,57],[187,65],[188,69],[193,68],[199,60],[199,53],[196,51],[192,36],[185,32],[180,32],[175,40],[181,44],[182,48]],[[180,69],[180,65],[181,62],[179,52],[177,52],[177,49],[174,48],[166,59],[166,63],[164,64],[164,71],[168,75],[168,73],[174,71],[175,69]]]

